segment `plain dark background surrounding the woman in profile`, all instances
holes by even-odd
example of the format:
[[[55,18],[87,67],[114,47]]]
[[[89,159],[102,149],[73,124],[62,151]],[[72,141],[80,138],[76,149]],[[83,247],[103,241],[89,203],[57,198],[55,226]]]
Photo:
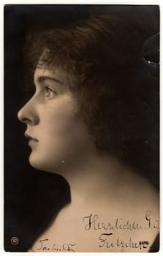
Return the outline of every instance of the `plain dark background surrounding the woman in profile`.
[[[69,201],[69,184],[64,178],[34,170],[29,165],[29,146],[18,110],[32,94],[24,86],[26,61],[23,47],[29,31],[64,25],[99,12],[140,18],[159,31],[158,6],[129,5],[6,5],[4,7],[4,247],[25,252],[45,229],[58,210]],[[159,68],[150,67],[153,80],[151,104],[156,112],[156,130],[145,157],[137,159],[151,182],[159,188]],[[150,95],[147,95],[150,98]],[[149,152],[149,153],[148,153]],[[137,157],[137,156],[136,156]],[[151,165],[148,165],[148,158]],[[134,156],[135,159],[135,156]],[[131,161],[132,162],[132,161]],[[133,160],[134,162],[134,160]],[[18,245],[10,239],[18,237]]]

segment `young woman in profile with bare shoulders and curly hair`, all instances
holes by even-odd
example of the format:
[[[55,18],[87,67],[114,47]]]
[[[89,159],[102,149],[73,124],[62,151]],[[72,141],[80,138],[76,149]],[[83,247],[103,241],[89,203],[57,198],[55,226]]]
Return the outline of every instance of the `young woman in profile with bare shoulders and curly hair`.
[[[150,251],[159,196],[129,162],[137,145],[150,143],[153,112],[141,98],[148,36],[137,21],[101,15],[37,34],[30,45],[36,91],[18,113],[29,162],[71,189],[31,251]]]

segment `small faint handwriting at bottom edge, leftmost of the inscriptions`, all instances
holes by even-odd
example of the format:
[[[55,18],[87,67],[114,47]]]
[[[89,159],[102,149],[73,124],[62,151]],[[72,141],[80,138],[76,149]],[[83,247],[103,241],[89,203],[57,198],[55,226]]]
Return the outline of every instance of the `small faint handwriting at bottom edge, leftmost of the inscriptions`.
[[[76,244],[53,244],[53,246],[48,246],[47,242],[49,241],[48,238],[39,240],[39,248],[37,248],[37,251],[43,251],[43,252],[75,252],[74,246]]]

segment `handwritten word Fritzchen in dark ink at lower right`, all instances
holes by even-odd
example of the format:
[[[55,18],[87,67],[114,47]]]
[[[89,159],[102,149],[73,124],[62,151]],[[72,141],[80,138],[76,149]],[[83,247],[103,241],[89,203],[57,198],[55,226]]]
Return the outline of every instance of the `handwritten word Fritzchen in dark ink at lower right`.
[[[132,241],[132,238],[129,238],[129,241],[123,241],[120,238],[118,238],[116,241],[112,238],[113,233],[102,233],[99,236],[99,247],[105,247],[105,248],[114,248],[119,247],[121,248],[121,252],[124,252],[124,249],[126,248],[132,248],[132,249],[146,249],[150,247],[150,243],[148,241]],[[109,238],[112,238],[112,240],[109,240]]]

